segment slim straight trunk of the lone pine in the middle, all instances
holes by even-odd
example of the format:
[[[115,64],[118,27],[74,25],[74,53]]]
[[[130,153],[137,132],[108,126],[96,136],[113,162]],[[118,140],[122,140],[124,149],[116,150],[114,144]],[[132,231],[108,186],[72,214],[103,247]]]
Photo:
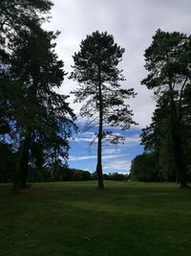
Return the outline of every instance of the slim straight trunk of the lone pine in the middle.
[[[104,189],[102,164],[101,164],[101,150],[102,150],[102,133],[103,133],[103,105],[101,92],[100,69],[98,68],[98,103],[99,103],[99,128],[98,128],[98,143],[97,143],[97,164],[96,174],[98,178],[98,189]]]

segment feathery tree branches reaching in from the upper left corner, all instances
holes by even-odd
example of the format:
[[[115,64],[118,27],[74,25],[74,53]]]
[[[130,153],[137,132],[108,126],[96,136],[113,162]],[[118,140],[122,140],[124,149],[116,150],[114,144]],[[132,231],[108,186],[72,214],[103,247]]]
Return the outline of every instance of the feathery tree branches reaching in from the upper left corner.
[[[22,30],[33,31],[46,19],[53,6],[50,0],[0,1],[0,134],[11,132],[12,86],[8,76],[11,48],[8,45]]]

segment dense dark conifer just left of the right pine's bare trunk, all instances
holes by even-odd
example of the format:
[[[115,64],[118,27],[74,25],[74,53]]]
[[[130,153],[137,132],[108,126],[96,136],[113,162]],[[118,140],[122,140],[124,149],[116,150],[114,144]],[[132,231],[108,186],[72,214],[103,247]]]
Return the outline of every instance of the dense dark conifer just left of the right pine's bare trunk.
[[[173,143],[170,129],[170,108],[168,96],[163,95],[157,102],[157,108],[149,127],[142,129],[141,144],[146,153],[155,153],[156,166],[162,179],[179,180],[173,154]]]

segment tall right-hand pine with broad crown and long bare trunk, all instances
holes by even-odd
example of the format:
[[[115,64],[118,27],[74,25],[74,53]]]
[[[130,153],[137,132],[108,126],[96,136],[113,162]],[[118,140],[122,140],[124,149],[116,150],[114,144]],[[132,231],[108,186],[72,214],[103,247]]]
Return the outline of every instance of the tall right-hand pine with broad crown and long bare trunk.
[[[186,187],[186,161],[183,155],[183,98],[191,79],[191,36],[160,30],[153,36],[145,51],[145,68],[149,75],[142,81],[149,89],[156,89],[158,98],[168,98],[170,133],[180,186]]]

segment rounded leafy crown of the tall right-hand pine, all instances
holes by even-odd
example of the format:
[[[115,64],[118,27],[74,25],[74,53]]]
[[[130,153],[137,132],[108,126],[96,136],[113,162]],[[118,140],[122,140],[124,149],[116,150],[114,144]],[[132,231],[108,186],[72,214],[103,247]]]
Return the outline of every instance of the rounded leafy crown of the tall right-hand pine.
[[[159,87],[161,92],[176,84],[173,91],[178,92],[190,74],[190,47],[190,36],[158,30],[145,51],[145,68],[149,75],[142,83],[149,89]]]

